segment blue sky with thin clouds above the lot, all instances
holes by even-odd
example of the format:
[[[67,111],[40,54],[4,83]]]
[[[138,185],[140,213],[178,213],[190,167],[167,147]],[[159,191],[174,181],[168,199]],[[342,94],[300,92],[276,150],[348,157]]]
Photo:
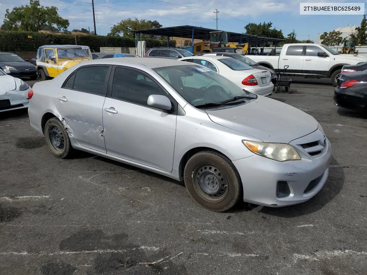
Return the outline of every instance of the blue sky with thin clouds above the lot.
[[[299,15],[299,3],[326,1],[294,0],[209,0],[200,5],[197,0],[95,0],[97,34],[106,35],[113,24],[122,19],[157,20],[164,27],[194,25],[215,29],[214,10],[218,9],[218,29],[244,32],[248,22],[273,22],[284,36],[294,29],[299,40],[310,38],[316,42],[317,33],[330,32],[348,24],[359,26],[362,15]],[[346,1],[328,1],[344,3]],[[363,1],[349,1],[364,3]],[[40,0],[43,6],[57,6],[59,14],[69,19],[69,30],[82,27],[93,30],[91,0]],[[346,2],[347,3],[347,2]],[[0,24],[5,10],[29,4],[26,0],[0,0]],[[183,6],[185,5],[185,6]],[[366,6],[367,8],[367,6]]]

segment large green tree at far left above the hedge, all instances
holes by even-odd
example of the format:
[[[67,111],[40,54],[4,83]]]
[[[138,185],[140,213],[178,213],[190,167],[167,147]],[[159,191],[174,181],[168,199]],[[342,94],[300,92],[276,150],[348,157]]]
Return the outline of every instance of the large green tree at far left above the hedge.
[[[4,25],[7,30],[38,32],[52,25],[58,30],[67,29],[69,20],[59,16],[57,7],[40,6],[39,0],[30,0],[29,5],[7,9]]]

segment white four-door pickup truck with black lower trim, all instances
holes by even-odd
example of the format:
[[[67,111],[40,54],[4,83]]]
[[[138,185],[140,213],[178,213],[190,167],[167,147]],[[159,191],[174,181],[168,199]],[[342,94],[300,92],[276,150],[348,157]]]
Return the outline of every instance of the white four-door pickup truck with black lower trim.
[[[367,61],[366,56],[338,54],[326,45],[303,43],[284,44],[279,56],[251,55],[250,58],[278,74],[283,73],[284,66],[289,66],[284,76],[331,78],[334,86],[344,65]]]

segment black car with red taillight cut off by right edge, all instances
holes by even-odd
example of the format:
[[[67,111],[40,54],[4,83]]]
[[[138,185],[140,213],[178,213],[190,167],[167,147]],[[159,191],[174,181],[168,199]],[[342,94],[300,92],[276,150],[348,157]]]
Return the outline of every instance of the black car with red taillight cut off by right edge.
[[[367,115],[367,70],[341,74],[333,102],[338,107]]]

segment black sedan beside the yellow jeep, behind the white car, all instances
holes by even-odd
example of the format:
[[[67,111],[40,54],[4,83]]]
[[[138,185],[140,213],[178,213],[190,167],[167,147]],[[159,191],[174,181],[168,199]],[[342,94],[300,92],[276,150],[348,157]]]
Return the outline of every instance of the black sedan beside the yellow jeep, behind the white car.
[[[0,52],[0,68],[9,70],[14,77],[30,77],[33,80],[37,78],[36,66],[10,52]]]

